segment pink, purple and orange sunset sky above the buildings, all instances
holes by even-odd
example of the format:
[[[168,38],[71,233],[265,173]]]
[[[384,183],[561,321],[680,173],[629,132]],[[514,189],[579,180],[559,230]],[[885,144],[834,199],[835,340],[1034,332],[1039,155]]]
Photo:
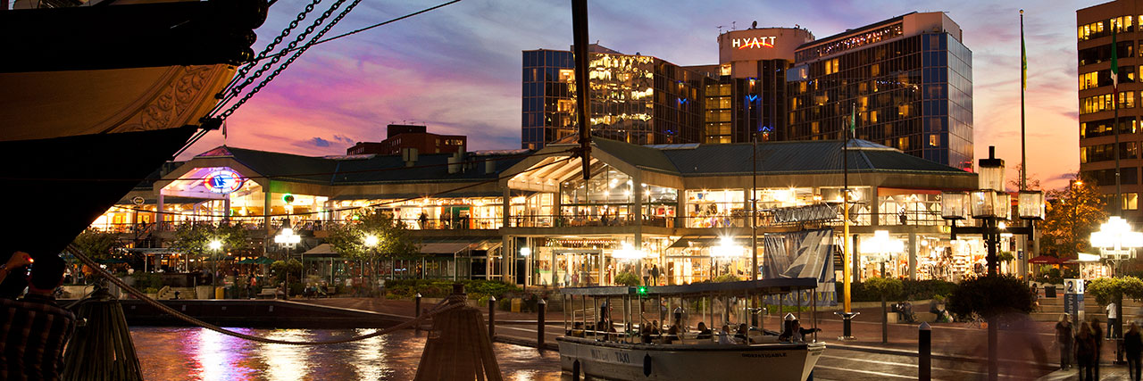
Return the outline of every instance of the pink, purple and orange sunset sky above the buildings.
[[[328,35],[440,2],[362,1]],[[591,41],[678,65],[718,63],[720,25],[798,24],[823,38],[914,10],[946,11],[973,50],[976,154],[988,155],[988,146],[997,146],[1008,176],[1016,177],[1023,7],[1029,176],[1056,188],[1079,168],[1076,9],[1101,2],[589,1],[588,8]],[[274,3],[257,31],[255,50],[305,3]],[[314,14],[323,9],[319,6]],[[467,135],[470,149],[519,148],[521,50],[570,44],[568,0],[464,0],[310,49],[227,120],[226,144],[344,154],[354,141],[383,139],[385,124],[406,122],[427,124],[431,132]],[[221,144],[222,135],[211,132],[179,159]]]

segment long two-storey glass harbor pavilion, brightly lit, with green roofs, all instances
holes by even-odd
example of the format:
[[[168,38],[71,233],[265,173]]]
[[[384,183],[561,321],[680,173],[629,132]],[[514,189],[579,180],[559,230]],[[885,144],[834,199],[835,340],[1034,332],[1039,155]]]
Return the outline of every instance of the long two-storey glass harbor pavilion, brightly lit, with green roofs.
[[[826,253],[818,267],[832,279],[834,271],[840,277],[836,253],[845,240],[848,183],[855,277],[954,278],[983,269],[980,237],[950,241],[941,219],[941,192],[976,188],[975,173],[865,140],[850,140],[844,157],[842,145],[640,146],[597,138],[586,179],[575,146],[565,144],[326,157],[223,146],[157,171],[93,227],[120,232],[151,266],[177,271],[190,258],[165,246],[182,224],[229,216],[257,248],[232,253],[238,259],[285,256],[272,237],[288,222],[303,236],[290,256],[337,283],[355,276],[355,265],[323,238],[329,227],[373,209],[405,222],[422,251],[383,265],[384,276],[555,287],[610,285],[622,273],[658,274],[660,284],[746,278],[754,248],[760,267],[797,262],[797,256],[776,256],[800,250],[783,249],[782,240],[825,232],[821,240],[797,240]],[[879,230],[897,244],[885,244]]]

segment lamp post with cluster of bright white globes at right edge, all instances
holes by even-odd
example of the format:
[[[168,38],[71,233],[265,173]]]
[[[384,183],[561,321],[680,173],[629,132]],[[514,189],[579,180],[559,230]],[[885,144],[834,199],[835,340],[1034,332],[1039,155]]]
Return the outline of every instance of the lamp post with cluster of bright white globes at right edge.
[[[1111,217],[1106,222],[1100,225],[1098,232],[1092,233],[1092,246],[1100,248],[1100,257],[1111,265],[1111,276],[1116,277],[1122,271],[1124,261],[1135,257],[1135,248],[1143,248],[1143,233],[1132,232],[1130,224],[1119,216]],[[1121,295],[1116,298],[1116,316],[1118,321],[1114,326],[1109,326],[1114,339],[1124,337],[1124,301]],[[1110,319],[1108,322],[1111,324]],[[1124,352],[1116,349],[1117,363],[1122,363]]]

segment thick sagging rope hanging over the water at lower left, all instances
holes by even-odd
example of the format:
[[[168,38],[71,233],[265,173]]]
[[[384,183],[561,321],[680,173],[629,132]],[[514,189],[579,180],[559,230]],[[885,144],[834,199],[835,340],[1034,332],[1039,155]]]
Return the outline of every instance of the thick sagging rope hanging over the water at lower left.
[[[160,303],[159,301],[149,298],[143,292],[136,290],[135,287],[131,287],[131,286],[127,285],[127,283],[123,283],[122,279],[115,277],[114,275],[112,275],[111,273],[109,273],[106,269],[99,267],[98,264],[96,264],[94,260],[91,260],[91,258],[87,257],[87,254],[83,254],[83,252],[81,252],[79,250],[79,248],[77,248],[74,244],[69,244],[66,250],[67,250],[69,253],[71,253],[72,256],[75,256],[75,258],[78,258],[80,261],[82,261],[83,265],[87,265],[87,267],[94,269],[96,273],[98,273],[99,275],[102,275],[104,278],[106,278],[111,283],[114,283],[120,289],[127,291],[127,293],[134,295],[135,298],[142,300],[143,302],[150,305],[151,307],[158,308],[159,310],[161,310],[161,311],[163,311],[166,314],[170,314],[171,316],[177,317],[177,318],[179,318],[179,319],[182,319],[182,321],[184,321],[186,323],[191,323],[191,324],[201,326],[201,327],[210,330],[210,331],[215,331],[215,332],[218,332],[218,333],[222,333],[222,334],[225,334],[225,335],[235,337],[235,338],[239,338],[239,339],[245,339],[245,340],[250,340],[250,341],[256,341],[256,342],[263,342],[263,343],[290,344],[290,346],[323,346],[323,344],[337,344],[337,343],[345,343],[345,342],[359,341],[359,340],[365,340],[365,339],[369,339],[369,338],[376,338],[376,337],[379,337],[379,335],[383,335],[383,334],[392,333],[392,332],[398,331],[398,330],[403,330],[403,329],[407,329],[409,326],[413,326],[414,324],[421,323],[424,319],[426,319],[429,317],[432,317],[433,315],[441,314],[441,313],[449,311],[449,310],[453,310],[453,309],[461,308],[461,307],[465,306],[465,303],[463,303],[463,300],[462,300],[463,295],[461,295],[459,298],[457,298],[457,295],[450,295],[449,298],[447,298],[445,300],[441,300],[437,305],[433,305],[432,308],[429,309],[429,311],[426,311],[424,314],[421,314],[421,316],[417,316],[417,317],[415,317],[413,319],[406,321],[405,323],[401,323],[401,324],[398,324],[398,325],[394,325],[394,326],[391,326],[391,327],[387,327],[387,329],[384,329],[384,330],[379,330],[377,332],[373,332],[373,333],[368,333],[368,334],[362,334],[362,335],[355,335],[355,337],[352,337],[352,338],[336,339],[336,340],[319,340],[319,341],[291,341],[291,340],[266,339],[266,338],[263,338],[263,337],[256,337],[256,335],[250,335],[250,334],[245,334],[245,333],[240,333],[240,332],[230,331],[230,330],[223,329],[221,326],[217,326],[217,325],[214,325],[214,324],[200,321],[198,318],[194,318],[193,316],[189,316],[186,314],[183,314],[183,313],[181,313],[178,310],[175,310],[174,308],[167,307],[167,305]]]

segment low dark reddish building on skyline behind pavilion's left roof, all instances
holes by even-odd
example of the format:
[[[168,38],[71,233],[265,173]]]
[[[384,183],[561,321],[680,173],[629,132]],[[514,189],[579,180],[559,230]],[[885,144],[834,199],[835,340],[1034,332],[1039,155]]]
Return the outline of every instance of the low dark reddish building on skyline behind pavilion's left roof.
[[[463,135],[438,135],[427,131],[424,125],[389,124],[385,140],[359,141],[345,149],[346,155],[397,155],[405,148],[415,148],[417,153],[439,154],[464,152],[469,137]]]

